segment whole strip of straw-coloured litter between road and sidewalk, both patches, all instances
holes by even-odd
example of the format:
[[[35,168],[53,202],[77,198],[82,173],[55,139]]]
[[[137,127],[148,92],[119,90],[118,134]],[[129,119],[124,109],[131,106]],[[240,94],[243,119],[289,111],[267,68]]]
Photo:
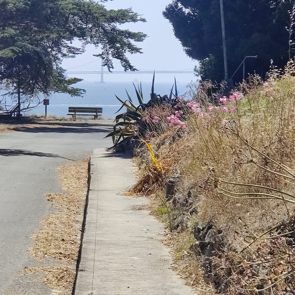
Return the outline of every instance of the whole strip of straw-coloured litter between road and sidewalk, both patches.
[[[88,163],[87,159],[58,168],[62,188],[68,193],[45,195],[54,212],[42,219],[42,227],[32,237],[32,255],[38,260],[51,258],[58,262],[58,266],[26,268],[23,272],[40,274],[42,282],[62,294],[71,294],[76,275],[74,269],[88,187]]]

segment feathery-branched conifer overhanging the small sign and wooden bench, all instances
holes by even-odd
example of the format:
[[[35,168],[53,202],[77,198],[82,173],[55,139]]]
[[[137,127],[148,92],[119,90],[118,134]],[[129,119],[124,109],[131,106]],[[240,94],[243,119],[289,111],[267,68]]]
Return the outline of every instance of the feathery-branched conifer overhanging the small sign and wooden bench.
[[[81,96],[84,90],[71,86],[81,79],[67,79],[62,60],[94,44],[109,70],[116,58],[125,71],[135,71],[126,54],[141,53],[132,42],[146,35],[118,25],[139,21],[145,19],[132,9],[108,10],[92,0],[0,0],[0,85],[18,98],[51,92]]]

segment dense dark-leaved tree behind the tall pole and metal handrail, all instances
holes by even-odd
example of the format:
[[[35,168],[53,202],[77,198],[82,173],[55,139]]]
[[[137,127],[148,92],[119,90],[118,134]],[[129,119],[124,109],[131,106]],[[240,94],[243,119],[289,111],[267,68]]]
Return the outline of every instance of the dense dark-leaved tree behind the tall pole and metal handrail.
[[[224,1],[227,59],[231,76],[247,55],[247,72],[264,76],[271,59],[279,67],[288,61],[287,11],[292,1]],[[220,81],[224,76],[219,0],[174,0],[163,12],[175,36],[191,58],[199,60],[201,78]],[[241,80],[242,73],[235,77]]]

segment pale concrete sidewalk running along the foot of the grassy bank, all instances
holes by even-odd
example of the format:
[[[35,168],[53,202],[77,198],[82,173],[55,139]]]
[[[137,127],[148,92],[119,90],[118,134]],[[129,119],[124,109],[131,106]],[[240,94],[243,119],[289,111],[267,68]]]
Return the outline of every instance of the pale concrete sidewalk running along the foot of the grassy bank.
[[[170,269],[160,243],[163,226],[145,210],[142,197],[122,196],[135,183],[130,159],[94,150],[76,295],[187,295],[189,286]]]

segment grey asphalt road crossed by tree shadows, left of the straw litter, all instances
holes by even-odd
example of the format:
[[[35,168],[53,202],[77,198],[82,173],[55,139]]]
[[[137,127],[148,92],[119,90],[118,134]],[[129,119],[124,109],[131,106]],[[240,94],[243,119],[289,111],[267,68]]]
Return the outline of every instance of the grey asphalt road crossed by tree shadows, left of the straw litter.
[[[111,145],[112,121],[57,124],[0,133],[0,294],[32,259],[30,237],[50,209],[42,195],[61,191],[55,168]]]

